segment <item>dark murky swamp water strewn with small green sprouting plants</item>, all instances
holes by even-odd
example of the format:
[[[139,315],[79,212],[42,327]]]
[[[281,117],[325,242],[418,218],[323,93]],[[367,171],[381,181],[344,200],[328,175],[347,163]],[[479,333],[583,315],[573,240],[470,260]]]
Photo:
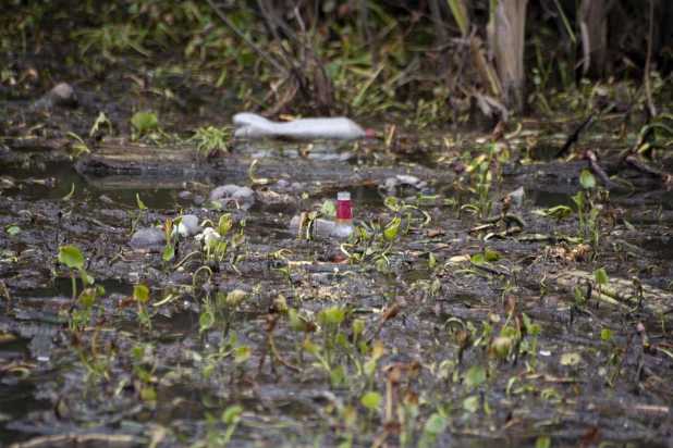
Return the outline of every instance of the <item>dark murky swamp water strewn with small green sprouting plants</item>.
[[[521,221],[479,227],[460,207],[476,203],[474,189],[457,201],[458,188],[475,187],[466,166],[484,147],[446,149],[437,132],[421,139],[429,149],[417,157],[387,154],[381,141],[268,141],[237,142],[219,161],[258,160],[254,176],[266,182],[201,170],[206,161],[181,175],[152,172],[152,161],[146,175],[100,175],[57,148],[10,145],[0,169],[0,440],[671,446],[671,192],[654,181],[612,189],[616,220],[598,214],[599,240],[585,232],[587,247],[572,252],[572,196],[584,191],[587,163],[519,163],[524,148],[512,140],[486,214],[498,216],[505,195],[524,187],[510,210]],[[427,187],[382,188],[395,174]],[[218,210],[208,195],[225,184],[250,186],[255,203]],[[356,220],[379,223],[374,238],[299,241],[292,216],[341,190]],[[138,227],[181,213],[217,226],[231,213],[221,260],[206,260],[194,235],[168,261],[166,245],[132,249],[136,195],[147,207]],[[413,208],[387,207],[390,196]],[[575,210],[534,213],[556,206]],[[234,235],[244,236],[237,247]],[[79,328],[69,324],[72,279],[59,246],[78,248],[105,289]],[[609,284],[637,276],[641,306],[604,297],[597,307],[601,267]],[[588,283],[583,303],[574,286],[582,296]],[[149,289],[151,331],[129,301],[136,285]],[[228,304],[234,289],[247,300]]]

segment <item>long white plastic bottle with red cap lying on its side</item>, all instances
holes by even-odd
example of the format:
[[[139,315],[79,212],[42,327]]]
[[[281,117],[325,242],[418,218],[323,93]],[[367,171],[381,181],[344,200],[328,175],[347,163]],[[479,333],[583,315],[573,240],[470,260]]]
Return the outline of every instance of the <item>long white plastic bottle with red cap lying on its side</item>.
[[[374,130],[365,130],[350,119],[299,119],[276,123],[255,113],[234,115],[234,136],[244,138],[287,138],[292,140],[342,139],[353,140],[374,137]]]

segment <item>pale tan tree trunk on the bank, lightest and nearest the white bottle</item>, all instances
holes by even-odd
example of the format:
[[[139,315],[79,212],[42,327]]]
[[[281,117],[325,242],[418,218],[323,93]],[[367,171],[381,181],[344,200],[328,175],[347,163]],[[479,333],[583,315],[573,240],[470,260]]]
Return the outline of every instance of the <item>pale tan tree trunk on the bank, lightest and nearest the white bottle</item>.
[[[528,0],[497,0],[495,3],[495,61],[502,84],[502,100],[514,112],[524,110],[527,2]]]

